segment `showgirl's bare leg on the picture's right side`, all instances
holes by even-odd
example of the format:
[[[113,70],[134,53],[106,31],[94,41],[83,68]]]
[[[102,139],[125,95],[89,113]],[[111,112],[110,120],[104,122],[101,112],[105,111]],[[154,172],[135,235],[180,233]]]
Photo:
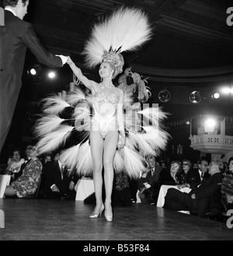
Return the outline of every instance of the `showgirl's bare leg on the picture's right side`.
[[[103,167],[104,167],[104,183],[106,190],[105,200],[105,216],[113,216],[111,197],[113,191],[113,157],[117,149],[118,132],[109,132],[104,141]]]

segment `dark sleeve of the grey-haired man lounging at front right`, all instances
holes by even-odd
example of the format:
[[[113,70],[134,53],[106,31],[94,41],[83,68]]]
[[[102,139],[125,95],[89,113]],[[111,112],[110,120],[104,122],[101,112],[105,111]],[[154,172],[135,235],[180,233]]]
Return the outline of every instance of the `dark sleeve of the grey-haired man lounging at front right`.
[[[214,194],[214,191],[219,189],[221,186],[222,177],[221,174],[214,174],[210,179],[200,185],[200,188],[197,189],[195,195],[196,199],[200,200],[202,198],[208,198]]]

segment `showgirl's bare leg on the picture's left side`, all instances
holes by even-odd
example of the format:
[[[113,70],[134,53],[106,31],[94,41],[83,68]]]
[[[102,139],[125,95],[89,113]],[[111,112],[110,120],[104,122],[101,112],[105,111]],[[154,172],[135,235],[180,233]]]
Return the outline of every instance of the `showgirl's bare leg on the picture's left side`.
[[[90,133],[90,146],[92,152],[92,160],[94,164],[93,181],[96,195],[96,208],[92,214],[98,214],[103,205],[102,188],[103,188],[103,138],[98,131]]]

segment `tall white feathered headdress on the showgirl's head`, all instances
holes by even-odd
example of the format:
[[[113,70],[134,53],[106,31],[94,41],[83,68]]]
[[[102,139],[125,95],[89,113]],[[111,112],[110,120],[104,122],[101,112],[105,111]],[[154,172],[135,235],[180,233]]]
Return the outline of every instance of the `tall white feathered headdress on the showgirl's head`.
[[[135,51],[150,38],[151,26],[146,14],[141,9],[121,7],[93,27],[83,52],[85,61],[90,67],[102,61],[111,61],[117,66],[121,52]]]

